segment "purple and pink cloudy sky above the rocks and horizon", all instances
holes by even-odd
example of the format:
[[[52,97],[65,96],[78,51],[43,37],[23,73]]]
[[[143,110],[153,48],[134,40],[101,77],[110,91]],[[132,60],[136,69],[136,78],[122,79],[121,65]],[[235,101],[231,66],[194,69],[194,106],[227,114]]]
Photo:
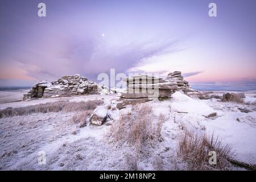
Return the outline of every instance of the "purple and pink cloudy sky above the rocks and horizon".
[[[203,89],[256,89],[255,18],[254,0],[1,0],[0,86],[75,73],[97,81],[115,68],[182,71]]]

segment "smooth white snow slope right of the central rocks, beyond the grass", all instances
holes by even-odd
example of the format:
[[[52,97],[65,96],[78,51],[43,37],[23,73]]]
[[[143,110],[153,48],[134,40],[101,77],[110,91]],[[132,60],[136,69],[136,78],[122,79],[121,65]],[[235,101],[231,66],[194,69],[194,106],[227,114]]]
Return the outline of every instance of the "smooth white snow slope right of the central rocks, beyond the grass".
[[[174,96],[176,97],[176,96]],[[187,99],[185,99],[187,98]],[[245,101],[255,101],[255,97],[246,96]],[[256,106],[220,102],[216,99],[193,100],[185,95],[171,104],[172,109],[187,111],[179,116],[180,122],[191,129],[206,130],[232,144],[236,159],[256,164]],[[250,109],[250,113],[241,113],[238,107]],[[203,115],[217,113],[217,117],[205,118]],[[180,118],[181,117],[181,118]],[[240,122],[237,121],[239,118]]]

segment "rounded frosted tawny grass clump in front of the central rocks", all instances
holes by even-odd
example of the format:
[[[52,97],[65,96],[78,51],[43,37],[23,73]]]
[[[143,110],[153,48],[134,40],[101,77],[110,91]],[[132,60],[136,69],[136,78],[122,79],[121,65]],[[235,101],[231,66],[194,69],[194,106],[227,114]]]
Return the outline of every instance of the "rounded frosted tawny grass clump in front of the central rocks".
[[[152,141],[162,140],[160,132],[163,122],[162,114],[154,122],[150,106],[134,105],[131,113],[121,114],[119,121],[110,130],[110,135],[116,142],[129,143],[141,151],[143,146],[150,145]]]

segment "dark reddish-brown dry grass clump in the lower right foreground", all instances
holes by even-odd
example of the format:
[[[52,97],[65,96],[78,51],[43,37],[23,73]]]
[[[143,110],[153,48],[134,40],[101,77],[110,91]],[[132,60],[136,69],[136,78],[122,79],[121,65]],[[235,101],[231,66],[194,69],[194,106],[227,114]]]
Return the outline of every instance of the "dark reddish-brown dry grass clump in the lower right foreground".
[[[209,152],[217,154],[217,164],[209,164]],[[187,162],[189,170],[225,169],[230,165],[228,159],[233,155],[232,147],[223,145],[218,138],[206,134],[197,135],[186,131],[178,143],[177,155]]]

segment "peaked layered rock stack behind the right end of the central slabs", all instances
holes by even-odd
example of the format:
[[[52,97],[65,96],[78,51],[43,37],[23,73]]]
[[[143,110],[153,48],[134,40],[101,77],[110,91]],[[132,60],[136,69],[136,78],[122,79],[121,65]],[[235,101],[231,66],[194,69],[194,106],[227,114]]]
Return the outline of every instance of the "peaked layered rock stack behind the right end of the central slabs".
[[[184,80],[183,76],[181,76],[181,72],[179,71],[169,73],[167,79],[170,81],[177,82],[178,88],[174,90],[174,92],[176,92],[177,90],[182,90],[184,93],[196,92],[196,90],[191,89],[191,86],[188,84],[188,81]]]

